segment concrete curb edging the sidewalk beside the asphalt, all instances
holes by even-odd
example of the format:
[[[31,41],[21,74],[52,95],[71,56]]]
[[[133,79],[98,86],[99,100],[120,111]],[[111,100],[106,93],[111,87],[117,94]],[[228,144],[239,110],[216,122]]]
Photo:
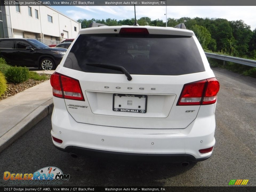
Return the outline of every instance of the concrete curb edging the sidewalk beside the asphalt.
[[[53,111],[53,99],[38,106],[0,139],[0,153]]]

